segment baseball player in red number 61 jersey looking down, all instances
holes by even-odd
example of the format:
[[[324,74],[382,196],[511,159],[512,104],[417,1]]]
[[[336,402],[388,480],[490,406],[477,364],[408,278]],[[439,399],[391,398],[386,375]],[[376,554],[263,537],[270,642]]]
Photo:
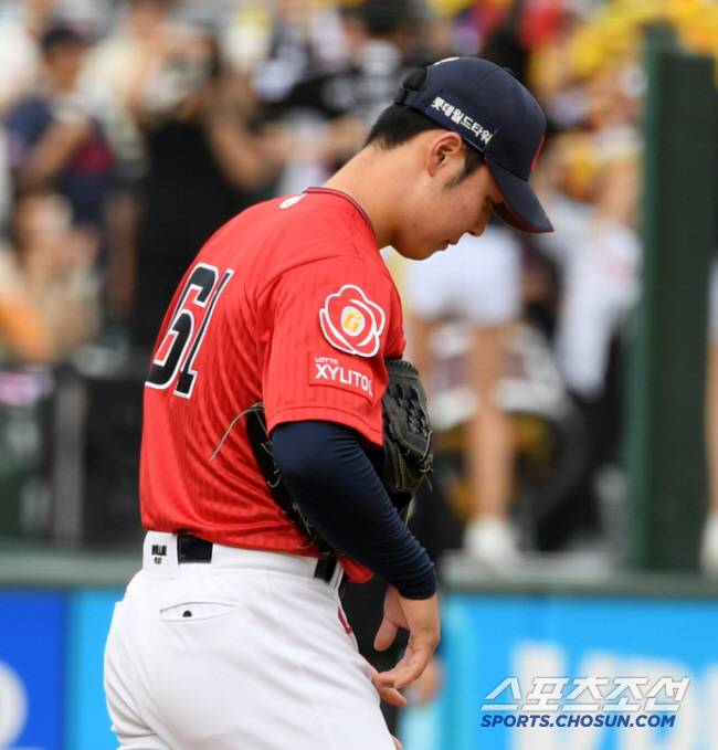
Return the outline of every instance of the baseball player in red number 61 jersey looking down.
[[[145,390],[142,570],[105,656],[123,748],[392,750],[380,698],[403,701],[440,621],[434,568],[377,471],[386,360],[404,347],[379,251],[429,257],[492,210],[551,231],[528,182],[543,130],[509,72],[436,63],[321,188],[252,207],[202,247]],[[409,631],[382,674],[338,594],[372,573],[390,584],[377,647]]]

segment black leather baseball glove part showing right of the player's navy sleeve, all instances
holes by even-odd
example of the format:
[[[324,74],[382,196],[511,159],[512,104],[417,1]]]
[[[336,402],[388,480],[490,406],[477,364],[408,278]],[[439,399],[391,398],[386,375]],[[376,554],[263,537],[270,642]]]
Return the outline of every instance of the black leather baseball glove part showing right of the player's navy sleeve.
[[[384,444],[374,467],[405,521],[411,498],[433,467],[432,430],[419,370],[405,359],[386,359],[384,365],[389,376],[381,399]]]

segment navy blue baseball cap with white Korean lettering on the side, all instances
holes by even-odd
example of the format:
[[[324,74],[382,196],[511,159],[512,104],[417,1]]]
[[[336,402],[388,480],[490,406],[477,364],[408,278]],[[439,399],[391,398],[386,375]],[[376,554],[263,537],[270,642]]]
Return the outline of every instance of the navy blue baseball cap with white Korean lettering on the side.
[[[420,91],[401,87],[395,104],[423,113],[484,155],[504,199],[500,219],[524,232],[553,225],[529,184],[546,135],[538,102],[511,74],[479,57],[450,57],[426,67]]]

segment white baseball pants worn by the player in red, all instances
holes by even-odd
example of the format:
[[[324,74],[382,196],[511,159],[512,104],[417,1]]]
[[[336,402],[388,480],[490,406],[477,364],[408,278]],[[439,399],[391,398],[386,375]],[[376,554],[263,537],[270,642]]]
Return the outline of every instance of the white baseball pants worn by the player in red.
[[[125,750],[393,750],[369,666],[316,560],[149,532],[115,608],[105,691]]]

